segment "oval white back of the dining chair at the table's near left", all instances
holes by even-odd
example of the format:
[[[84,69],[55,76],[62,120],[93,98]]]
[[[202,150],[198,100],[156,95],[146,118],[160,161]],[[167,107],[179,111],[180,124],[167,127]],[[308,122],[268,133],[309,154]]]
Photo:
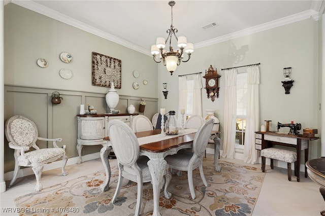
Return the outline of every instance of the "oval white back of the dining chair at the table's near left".
[[[108,135],[118,162],[123,166],[133,166],[139,158],[140,146],[132,129],[114,119],[108,123]]]

